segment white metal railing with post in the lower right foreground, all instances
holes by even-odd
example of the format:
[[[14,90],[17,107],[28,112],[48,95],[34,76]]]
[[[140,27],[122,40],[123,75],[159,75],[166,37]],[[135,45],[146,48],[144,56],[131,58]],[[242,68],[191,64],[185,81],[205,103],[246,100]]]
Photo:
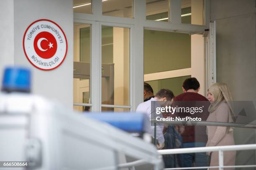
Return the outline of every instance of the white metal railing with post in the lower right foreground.
[[[219,166],[212,167],[186,167],[186,168],[165,168],[164,170],[187,170],[187,169],[206,169],[206,168],[219,168],[219,170],[224,170],[224,168],[251,168],[256,167],[256,165],[234,165],[234,166],[224,166],[223,151],[231,150],[256,150],[256,144],[249,145],[228,145],[228,146],[210,146],[210,147],[197,147],[197,148],[181,148],[181,149],[166,149],[158,150],[161,155],[169,154],[182,154],[182,153],[203,153],[203,152],[219,152]]]

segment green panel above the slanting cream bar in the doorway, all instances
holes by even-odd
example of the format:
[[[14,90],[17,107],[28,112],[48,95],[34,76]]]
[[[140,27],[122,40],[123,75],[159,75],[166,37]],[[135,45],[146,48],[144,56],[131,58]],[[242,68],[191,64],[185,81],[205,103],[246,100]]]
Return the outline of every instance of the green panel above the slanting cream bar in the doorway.
[[[144,30],[144,74],[190,67],[189,34]]]

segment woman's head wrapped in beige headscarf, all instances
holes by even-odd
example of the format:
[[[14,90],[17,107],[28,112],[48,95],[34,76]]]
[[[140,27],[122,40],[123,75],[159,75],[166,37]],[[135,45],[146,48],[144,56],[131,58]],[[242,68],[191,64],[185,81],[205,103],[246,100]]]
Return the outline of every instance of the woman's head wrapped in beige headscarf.
[[[228,86],[225,83],[216,82],[208,89],[207,98],[210,102],[231,101],[232,96]]]

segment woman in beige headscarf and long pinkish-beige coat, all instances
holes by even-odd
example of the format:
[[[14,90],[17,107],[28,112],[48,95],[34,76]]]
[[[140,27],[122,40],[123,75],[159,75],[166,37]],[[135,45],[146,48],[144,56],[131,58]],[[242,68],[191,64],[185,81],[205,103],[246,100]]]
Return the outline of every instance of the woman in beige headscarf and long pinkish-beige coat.
[[[232,96],[228,86],[224,83],[214,83],[208,89],[208,100],[211,105],[207,121],[210,122],[235,122],[232,106]],[[233,138],[233,128],[225,126],[207,126],[208,141],[206,146],[235,145]],[[208,153],[211,155],[210,166],[218,166],[218,152]],[[236,151],[224,152],[224,165],[235,165]],[[216,168],[211,168],[211,170]],[[234,168],[225,168],[233,170]]]

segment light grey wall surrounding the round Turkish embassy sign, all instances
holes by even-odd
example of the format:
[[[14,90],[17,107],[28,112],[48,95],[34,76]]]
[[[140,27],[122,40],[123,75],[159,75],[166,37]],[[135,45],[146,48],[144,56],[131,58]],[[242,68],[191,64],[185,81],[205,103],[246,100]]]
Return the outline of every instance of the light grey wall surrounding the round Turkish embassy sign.
[[[72,7],[72,0],[14,0],[14,64],[23,65],[32,70],[34,94],[59,100],[70,109],[73,103]],[[67,37],[67,56],[59,67],[51,71],[33,67],[23,52],[24,32],[28,25],[39,19],[54,21]]]

